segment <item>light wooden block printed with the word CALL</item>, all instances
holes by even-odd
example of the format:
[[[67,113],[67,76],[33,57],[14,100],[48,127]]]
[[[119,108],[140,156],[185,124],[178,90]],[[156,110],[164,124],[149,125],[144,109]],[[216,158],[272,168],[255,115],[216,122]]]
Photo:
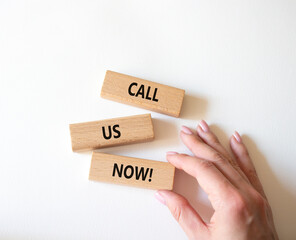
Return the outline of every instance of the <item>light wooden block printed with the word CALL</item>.
[[[179,117],[185,91],[179,88],[107,71],[101,97]]]

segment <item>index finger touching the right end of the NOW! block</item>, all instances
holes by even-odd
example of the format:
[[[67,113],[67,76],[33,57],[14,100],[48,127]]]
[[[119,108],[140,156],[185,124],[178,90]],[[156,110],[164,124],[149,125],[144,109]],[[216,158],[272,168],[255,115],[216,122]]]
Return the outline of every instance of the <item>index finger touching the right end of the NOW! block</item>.
[[[199,185],[209,195],[215,210],[219,208],[221,200],[228,201],[235,190],[230,181],[210,161],[176,152],[168,152],[167,160],[197,179]]]

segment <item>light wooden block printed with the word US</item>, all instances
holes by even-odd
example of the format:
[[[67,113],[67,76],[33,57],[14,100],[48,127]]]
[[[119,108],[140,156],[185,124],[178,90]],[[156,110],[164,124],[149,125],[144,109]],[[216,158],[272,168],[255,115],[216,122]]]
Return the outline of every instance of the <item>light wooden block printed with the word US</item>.
[[[73,151],[93,150],[154,139],[151,114],[70,124]]]

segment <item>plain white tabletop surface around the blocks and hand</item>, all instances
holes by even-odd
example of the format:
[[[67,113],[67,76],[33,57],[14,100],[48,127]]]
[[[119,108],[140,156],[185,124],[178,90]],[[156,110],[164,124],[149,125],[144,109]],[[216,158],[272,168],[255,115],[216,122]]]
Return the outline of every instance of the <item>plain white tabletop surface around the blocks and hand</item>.
[[[181,125],[243,135],[281,239],[295,239],[296,1],[0,1],[0,239],[186,239],[154,191],[88,181],[69,123],[149,111],[99,96],[107,69],[186,90],[156,139],[101,150],[165,161]],[[209,218],[195,180],[175,190]]]

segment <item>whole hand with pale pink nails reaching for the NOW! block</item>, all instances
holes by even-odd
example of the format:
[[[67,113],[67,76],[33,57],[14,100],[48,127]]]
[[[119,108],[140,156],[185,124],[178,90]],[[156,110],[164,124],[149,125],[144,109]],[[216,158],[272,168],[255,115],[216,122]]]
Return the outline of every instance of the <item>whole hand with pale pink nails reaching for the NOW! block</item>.
[[[167,160],[196,178],[208,194],[214,214],[206,223],[183,196],[167,190],[159,190],[155,196],[169,208],[188,238],[278,239],[271,208],[240,135],[235,132],[230,138],[235,158],[205,121],[196,132],[183,126],[180,136],[194,156],[168,152]]]

